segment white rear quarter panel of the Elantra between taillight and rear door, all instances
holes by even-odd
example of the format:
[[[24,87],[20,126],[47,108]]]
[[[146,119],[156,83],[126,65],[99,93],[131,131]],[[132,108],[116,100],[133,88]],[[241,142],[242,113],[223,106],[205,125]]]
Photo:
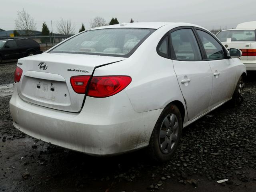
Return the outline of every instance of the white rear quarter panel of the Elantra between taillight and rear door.
[[[102,66],[94,72],[94,76],[131,76],[132,82],[125,92],[136,112],[164,108],[174,100],[182,102],[186,108],[172,60],[156,52],[158,42],[168,30],[168,26],[163,26],[150,35],[128,59]]]

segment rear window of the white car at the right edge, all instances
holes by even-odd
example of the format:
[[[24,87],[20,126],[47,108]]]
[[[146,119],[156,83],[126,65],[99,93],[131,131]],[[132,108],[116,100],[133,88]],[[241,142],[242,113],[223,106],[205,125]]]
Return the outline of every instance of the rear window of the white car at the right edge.
[[[227,41],[227,38],[231,38],[231,41],[255,41],[255,32],[254,30],[221,31],[216,37],[220,41]]]

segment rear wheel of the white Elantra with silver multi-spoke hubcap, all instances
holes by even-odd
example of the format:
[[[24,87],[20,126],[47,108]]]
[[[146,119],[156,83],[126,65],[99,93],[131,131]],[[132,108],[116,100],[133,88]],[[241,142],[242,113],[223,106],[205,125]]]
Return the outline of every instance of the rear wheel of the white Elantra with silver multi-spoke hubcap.
[[[178,107],[169,104],[158,118],[151,134],[148,152],[154,162],[170,160],[180,142],[182,118]]]

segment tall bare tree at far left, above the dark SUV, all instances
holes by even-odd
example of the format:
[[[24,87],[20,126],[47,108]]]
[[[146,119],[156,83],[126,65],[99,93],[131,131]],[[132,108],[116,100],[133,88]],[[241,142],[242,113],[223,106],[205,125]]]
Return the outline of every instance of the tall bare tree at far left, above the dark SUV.
[[[17,12],[17,19],[15,20],[15,26],[17,30],[24,31],[25,35],[30,36],[33,31],[36,30],[36,23],[34,17],[30,16],[28,12],[22,8],[21,11]]]

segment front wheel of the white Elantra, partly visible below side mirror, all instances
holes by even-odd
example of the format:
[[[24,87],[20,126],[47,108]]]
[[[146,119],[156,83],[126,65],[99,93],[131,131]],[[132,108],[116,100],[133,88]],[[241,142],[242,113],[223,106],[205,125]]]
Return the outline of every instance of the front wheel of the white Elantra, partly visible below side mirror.
[[[236,89],[234,91],[232,99],[230,100],[231,106],[233,107],[239,106],[244,101],[244,97],[242,96],[243,89],[244,89],[244,79],[243,79],[243,76],[241,76],[238,80],[238,83],[236,84]]]

